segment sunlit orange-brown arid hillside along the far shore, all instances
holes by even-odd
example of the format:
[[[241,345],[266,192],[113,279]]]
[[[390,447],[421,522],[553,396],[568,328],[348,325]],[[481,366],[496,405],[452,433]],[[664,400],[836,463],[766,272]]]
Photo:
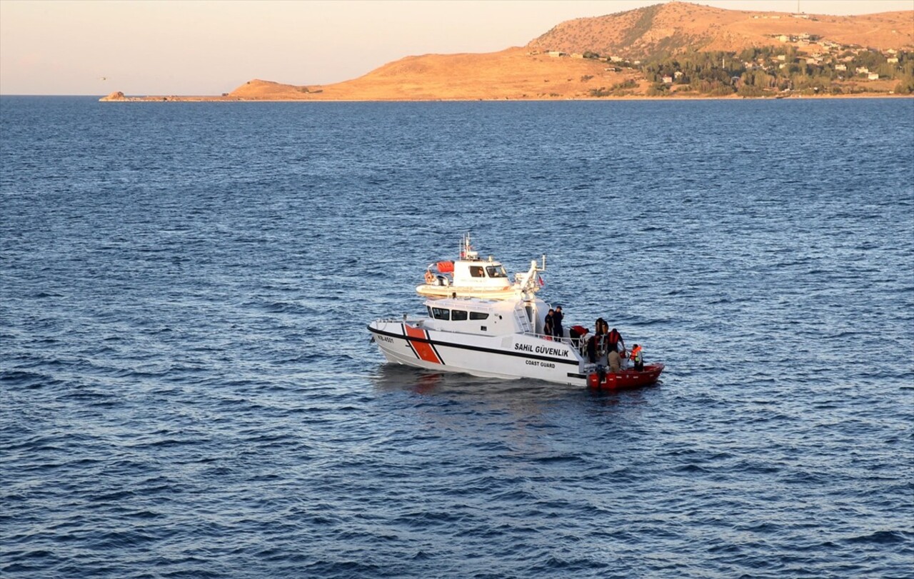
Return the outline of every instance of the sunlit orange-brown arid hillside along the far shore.
[[[810,38],[823,44],[811,44]],[[112,93],[102,100],[548,100],[592,98],[595,91],[599,97],[637,97],[652,94],[651,86],[658,80],[649,80],[643,69],[613,66],[607,61],[609,57],[632,61],[689,50],[739,52],[750,47],[783,50],[788,46],[797,55],[832,50],[834,54],[827,58],[834,63],[838,57],[835,47],[911,51],[914,10],[819,16],[670,2],[569,20],[526,47],[487,54],[401,58],[358,79],[331,85],[296,86],[255,79],[221,97],[131,98]],[[602,58],[581,58],[584,55]],[[781,67],[776,62],[771,64]],[[853,72],[853,63],[851,67]],[[883,93],[898,81],[894,77],[864,80],[872,81],[866,90]],[[777,89],[777,83],[773,84]],[[670,90],[667,94],[689,92]]]

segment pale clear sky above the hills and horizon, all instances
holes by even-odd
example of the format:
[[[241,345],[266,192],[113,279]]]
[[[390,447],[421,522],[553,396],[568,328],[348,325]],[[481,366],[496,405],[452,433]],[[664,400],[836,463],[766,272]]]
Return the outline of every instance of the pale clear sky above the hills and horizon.
[[[330,84],[409,55],[523,46],[565,20],[662,1],[0,0],[0,94],[211,95],[250,79]],[[800,0],[799,8],[872,14],[912,10],[914,0]]]

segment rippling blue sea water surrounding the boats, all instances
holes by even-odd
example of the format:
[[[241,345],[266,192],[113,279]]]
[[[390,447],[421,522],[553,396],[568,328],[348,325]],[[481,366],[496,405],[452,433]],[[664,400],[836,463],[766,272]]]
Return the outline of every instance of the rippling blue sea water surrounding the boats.
[[[0,575],[905,577],[914,100],[0,99]],[[384,363],[471,232],[661,384]]]

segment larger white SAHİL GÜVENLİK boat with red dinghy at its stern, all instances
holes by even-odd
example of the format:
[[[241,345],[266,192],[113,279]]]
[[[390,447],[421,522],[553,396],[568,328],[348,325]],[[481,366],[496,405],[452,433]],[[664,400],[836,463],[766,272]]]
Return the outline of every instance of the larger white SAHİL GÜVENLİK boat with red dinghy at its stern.
[[[388,362],[427,370],[594,388],[657,381],[662,363],[607,373],[606,353],[590,362],[585,339],[568,331],[561,337],[544,335],[549,306],[533,295],[534,279],[526,275],[514,300],[430,299],[425,301],[427,317],[376,320],[368,324],[368,331]]]

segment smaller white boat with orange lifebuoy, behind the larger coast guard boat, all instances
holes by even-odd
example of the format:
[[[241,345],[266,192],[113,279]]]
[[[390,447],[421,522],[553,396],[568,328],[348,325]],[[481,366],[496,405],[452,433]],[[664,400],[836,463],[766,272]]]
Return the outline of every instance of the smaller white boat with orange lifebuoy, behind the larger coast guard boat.
[[[463,236],[460,258],[438,261],[425,271],[425,283],[416,287],[416,293],[426,298],[472,297],[484,300],[517,300],[523,291],[536,293],[543,285],[540,271],[546,270],[546,256],[542,267],[532,261],[526,272],[518,272],[514,279],[508,277],[505,266],[479,257],[470,243],[470,234]],[[534,283],[528,283],[528,281]]]

